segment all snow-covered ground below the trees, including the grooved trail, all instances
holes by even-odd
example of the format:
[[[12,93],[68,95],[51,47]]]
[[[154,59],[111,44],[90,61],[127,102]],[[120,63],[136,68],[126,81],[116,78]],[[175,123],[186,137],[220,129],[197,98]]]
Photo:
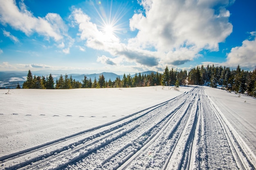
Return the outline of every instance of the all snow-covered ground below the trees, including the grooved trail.
[[[2,89],[0,167],[255,169],[256,100],[179,89]]]

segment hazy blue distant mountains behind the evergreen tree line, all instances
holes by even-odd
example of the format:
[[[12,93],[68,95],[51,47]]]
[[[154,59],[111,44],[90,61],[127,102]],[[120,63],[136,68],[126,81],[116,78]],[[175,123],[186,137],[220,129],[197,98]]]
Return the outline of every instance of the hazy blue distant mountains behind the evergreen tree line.
[[[146,71],[146,72],[141,72],[140,74],[144,74],[144,75],[148,75],[151,73],[156,74],[157,72],[155,71]],[[22,85],[24,83],[24,81],[27,80],[27,73],[28,72],[0,72],[0,88],[16,88],[17,84],[19,83],[20,85]],[[47,72],[36,72],[33,73],[33,76],[49,76],[50,73]],[[59,78],[61,74],[52,74],[52,76],[54,77],[54,80],[56,80],[57,78]],[[64,74],[62,74],[64,75]],[[67,74],[68,77],[70,77],[70,75],[72,75],[72,78],[75,79],[76,81],[82,81],[84,79],[84,76],[86,76],[88,79],[91,78],[92,81],[94,80],[94,78],[96,77],[97,80],[99,78],[99,75],[103,75],[105,77],[105,80],[108,81],[109,79],[111,81],[115,81],[115,79],[120,76],[120,78],[123,78],[123,75],[117,75],[115,73],[112,72],[102,72],[99,74]],[[137,73],[137,75],[139,75],[139,73]],[[127,76],[127,75],[126,75]],[[135,76],[135,74],[131,75],[132,77]]]

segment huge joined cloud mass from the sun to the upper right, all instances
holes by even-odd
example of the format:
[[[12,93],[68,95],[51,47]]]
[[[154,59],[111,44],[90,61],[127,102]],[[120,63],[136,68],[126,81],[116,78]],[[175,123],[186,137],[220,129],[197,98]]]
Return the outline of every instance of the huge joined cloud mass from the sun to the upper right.
[[[128,44],[100,31],[81,9],[73,7],[70,18],[79,27],[79,36],[87,47],[109,52],[116,64],[120,64],[117,59],[122,58],[138,67],[149,68],[182,65],[202,57],[199,54],[202,50],[218,51],[218,44],[225,41],[233,29],[226,9],[233,3],[230,0],[138,2],[144,9],[130,19],[130,30],[138,33],[127,40]],[[108,61],[101,57],[98,60]]]

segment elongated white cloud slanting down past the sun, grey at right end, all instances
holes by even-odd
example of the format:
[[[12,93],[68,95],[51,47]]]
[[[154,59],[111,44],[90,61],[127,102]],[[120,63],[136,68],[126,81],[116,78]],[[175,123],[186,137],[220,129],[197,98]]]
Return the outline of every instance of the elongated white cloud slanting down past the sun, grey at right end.
[[[99,31],[97,25],[90,21],[90,17],[81,9],[73,9],[74,21],[79,26],[80,38],[86,40],[86,46],[97,50],[109,52],[112,56],[125,57],[128,62],[137,62],[142,65],[155,66],[158,64],[155,54],[148,50],[129,47],[120,42],[115,35]],[[99,61],[113,64],[106,58],[98,58]],[[104,59],[104,60],[102,60]]]

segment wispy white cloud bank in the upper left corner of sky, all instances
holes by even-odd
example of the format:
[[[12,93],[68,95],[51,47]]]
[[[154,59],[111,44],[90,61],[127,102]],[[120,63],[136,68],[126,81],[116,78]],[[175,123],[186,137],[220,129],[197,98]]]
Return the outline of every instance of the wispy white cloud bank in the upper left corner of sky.
[[[35,17],[27,10],[23,1],[18,5],[15,0],[0,0],[0,22],[2,24],[9,24],[26,35],[36,32],[45,37],[51,37],[55,41],[63,39],[67,26],[60,15],[48,13],[45,17]]]

